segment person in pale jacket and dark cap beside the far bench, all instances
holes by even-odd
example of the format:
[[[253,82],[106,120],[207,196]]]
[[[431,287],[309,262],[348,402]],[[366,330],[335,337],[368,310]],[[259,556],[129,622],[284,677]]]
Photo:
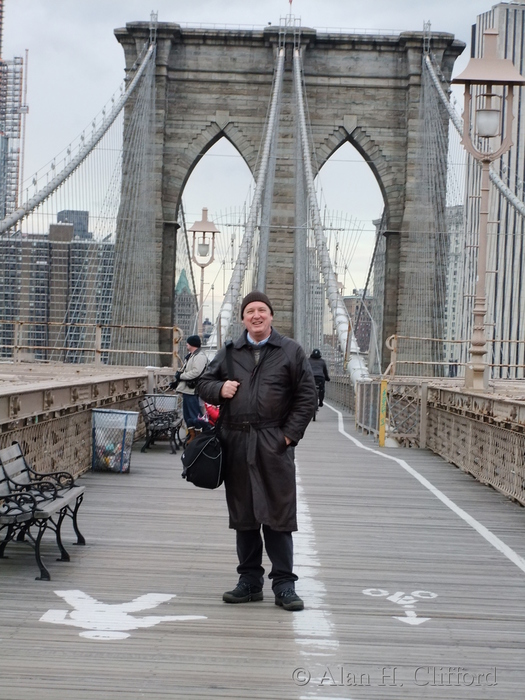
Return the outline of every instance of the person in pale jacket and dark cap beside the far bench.
[[[199,418],[204,411],[196,390],[199,377],[208,366],[208,358],[201,350],[201,339],[198,335],[190,335],[186,340],[186,347],[188,354],[181,369],[175,373],[175,381],[170,384],[170,388],[182,394],[182,416],[186,424],[187,444],[195,437],[196,430],[208,427],[208,424]]]

